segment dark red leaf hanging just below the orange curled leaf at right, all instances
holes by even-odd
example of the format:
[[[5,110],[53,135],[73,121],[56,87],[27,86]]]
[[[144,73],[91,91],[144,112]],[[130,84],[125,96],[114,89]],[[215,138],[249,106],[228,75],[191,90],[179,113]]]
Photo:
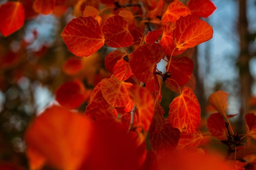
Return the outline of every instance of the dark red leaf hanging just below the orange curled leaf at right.
[[[213,113],[207,119],[209,132],[220,140],[227,139],[227,128],[225,127],[224,117],[220,113]]]

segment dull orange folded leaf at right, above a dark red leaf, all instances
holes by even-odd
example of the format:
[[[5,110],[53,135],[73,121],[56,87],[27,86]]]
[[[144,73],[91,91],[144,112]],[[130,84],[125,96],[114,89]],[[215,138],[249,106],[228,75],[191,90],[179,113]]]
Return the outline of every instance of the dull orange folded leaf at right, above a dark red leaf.
[[[228,95],[227,92],[217,91],[212,93],[208,99],[208,102],[223,116],[226,116]]]

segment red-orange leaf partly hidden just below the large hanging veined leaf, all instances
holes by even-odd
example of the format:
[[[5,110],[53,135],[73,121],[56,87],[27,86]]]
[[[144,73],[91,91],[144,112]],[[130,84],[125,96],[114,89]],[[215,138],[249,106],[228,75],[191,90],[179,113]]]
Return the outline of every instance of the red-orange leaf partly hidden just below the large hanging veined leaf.
[[[187,134],[185,132],[182,132],[176,149],[185,149],[187,146],[197,148],[203,138],[204,137],[199,130],[196,130],[193,134]]]

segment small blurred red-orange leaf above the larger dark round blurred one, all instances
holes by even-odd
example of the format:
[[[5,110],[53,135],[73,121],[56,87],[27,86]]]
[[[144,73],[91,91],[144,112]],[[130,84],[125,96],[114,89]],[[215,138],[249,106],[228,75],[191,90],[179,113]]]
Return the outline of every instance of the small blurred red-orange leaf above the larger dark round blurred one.
[[[62,66],[67,75],[75,75],[83,69],[81,58],[71,57]]]

